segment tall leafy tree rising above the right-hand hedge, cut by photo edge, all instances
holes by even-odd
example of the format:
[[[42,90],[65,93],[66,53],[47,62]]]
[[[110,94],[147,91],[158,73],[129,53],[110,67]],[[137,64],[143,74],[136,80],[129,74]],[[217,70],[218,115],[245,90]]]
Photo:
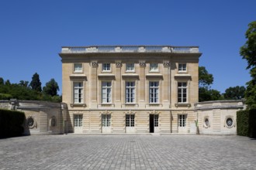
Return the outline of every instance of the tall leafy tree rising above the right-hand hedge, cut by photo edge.
[[[247,70],[250,69],[251,80],[247,82],[245,102],[248,109],[256,108],[256,21],[248,25],[245,37],[247,41],[240,47],[240,55],[247,60]]]

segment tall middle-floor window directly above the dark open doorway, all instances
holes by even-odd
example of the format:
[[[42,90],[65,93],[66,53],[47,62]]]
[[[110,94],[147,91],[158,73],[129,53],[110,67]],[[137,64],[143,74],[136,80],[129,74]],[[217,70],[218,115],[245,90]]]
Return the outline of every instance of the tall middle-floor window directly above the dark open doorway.
[[[149,103],[155,104],[159,101],[159,82],[150,81],[149,83]]]

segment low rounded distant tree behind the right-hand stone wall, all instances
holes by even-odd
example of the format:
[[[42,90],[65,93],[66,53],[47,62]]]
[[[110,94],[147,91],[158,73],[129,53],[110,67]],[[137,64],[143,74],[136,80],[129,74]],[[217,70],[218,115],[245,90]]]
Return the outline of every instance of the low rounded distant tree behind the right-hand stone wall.
[[[229,87],[223,93],[223,96],[227,100],[238,100],[244,98],[245,87]]]

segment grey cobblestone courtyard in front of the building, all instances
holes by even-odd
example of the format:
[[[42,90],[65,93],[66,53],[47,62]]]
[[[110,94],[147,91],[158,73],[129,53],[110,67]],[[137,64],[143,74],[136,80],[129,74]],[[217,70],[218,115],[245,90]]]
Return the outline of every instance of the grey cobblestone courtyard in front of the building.
[[[0,139],[0,169],[256,169],[256,140],[191,134]]]

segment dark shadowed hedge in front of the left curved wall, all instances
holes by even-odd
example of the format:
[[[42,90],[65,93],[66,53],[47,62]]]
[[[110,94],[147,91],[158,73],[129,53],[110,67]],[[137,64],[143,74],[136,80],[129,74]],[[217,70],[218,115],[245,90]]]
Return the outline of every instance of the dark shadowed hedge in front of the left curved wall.
[[[21,136],[24,132],[24,122],[23,112],[0,109],[0,138]]]

